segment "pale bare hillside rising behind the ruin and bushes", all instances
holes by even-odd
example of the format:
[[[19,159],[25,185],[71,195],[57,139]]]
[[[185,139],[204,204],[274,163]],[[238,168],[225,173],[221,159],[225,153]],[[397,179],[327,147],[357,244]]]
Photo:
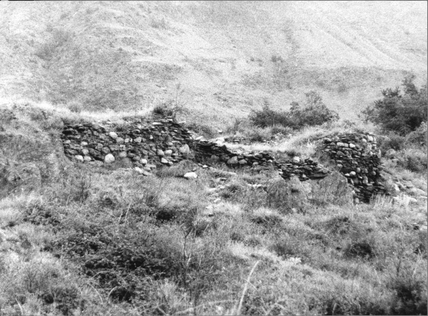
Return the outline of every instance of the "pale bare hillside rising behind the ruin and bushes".
[[[1,97],[93,110],[177,97],[222,126],[313,89],[353,119],[427,78],[425,1],[2,1],[0,19]]]

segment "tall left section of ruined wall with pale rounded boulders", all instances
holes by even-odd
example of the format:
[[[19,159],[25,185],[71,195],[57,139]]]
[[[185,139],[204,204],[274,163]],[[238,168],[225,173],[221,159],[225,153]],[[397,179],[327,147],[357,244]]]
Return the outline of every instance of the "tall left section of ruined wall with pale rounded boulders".
[[[171,165],[188,158],[187,129],[172,119],[140,120],[122,125],[67,123],[62,133],[64,152],[74,160],[110,163],[127,159],[146,171],[157,165]]]

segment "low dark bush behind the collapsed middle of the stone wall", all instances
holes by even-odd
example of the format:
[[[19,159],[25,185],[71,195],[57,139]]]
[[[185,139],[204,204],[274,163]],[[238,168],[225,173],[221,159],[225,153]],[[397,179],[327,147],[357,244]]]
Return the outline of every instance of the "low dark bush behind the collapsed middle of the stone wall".
[[[304,126],[321,125],[332,122],[339,118],[339,115],[323,103],[321,96],[315,91],[305,93],[306,104],[303,108],[297,102],[291,102],[291,109],[286,111],[275,111],[265,102],[261,111],[253,111],[249,119],[253,125],[258,127],[268,127],[282,125],[293,129],[300,129]]]

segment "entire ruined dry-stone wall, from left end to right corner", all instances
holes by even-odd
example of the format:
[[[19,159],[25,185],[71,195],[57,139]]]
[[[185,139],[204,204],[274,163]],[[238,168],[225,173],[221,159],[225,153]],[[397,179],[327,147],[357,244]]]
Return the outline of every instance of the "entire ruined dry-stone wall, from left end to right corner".
[[[332,165],[327,168],[311,158],[284,159],[268,152],[235,153],[221,142],[194,138],[172,118],[144,122],[134,119],[121,125],[65,122],[64,126],[65,155],[84,163],[102,165],[126,160],[143,174],[183,159],[218,161],[231,167],[273,165],[283,178],[295,175],[300,181],[324,178],[336,169],[354,186],[356,202],[369,202],[373,194],[384,193],[380,152],[371,134],[343,134],[321,140],[318,151]]]

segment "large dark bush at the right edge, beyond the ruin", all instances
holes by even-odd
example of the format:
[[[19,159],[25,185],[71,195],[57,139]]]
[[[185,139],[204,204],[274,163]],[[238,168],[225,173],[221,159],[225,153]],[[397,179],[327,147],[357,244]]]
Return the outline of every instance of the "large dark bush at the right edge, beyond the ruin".
[[[383,99],[375,101],[373,106],[361,112],[365,120],[400,135],[409,134],[427,122],[427,84],[418,90],[414,79],[415,76],[407,76],[403,80],[404,94],[401,94],[399,87],[383,90]]]

